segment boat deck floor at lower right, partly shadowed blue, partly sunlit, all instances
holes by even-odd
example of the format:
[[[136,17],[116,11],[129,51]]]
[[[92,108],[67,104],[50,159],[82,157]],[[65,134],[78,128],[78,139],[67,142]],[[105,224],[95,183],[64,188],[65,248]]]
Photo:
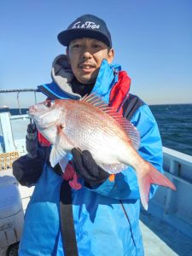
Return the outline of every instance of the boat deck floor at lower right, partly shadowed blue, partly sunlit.
[[[146,211],[141,212],[140,226],[146,256],[192,255],[192,234],[191,238],[185,236],[170,224]]]

